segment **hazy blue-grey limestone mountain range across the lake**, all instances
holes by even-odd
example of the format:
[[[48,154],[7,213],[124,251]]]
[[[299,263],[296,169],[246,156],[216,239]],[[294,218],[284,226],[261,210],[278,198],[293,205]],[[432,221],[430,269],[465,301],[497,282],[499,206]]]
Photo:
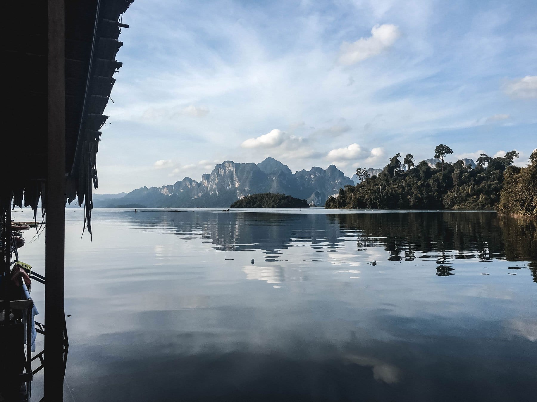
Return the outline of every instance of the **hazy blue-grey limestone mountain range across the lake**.
[[[190,177],[162,187],[141,187],[122,197],[99,199],[97,207],[138,204],[146,207],[223,207],[237,199],[256,193],[280,193],[306,199],[310,205],[323,205],[345,184],[353,184],[334,165],[326,169],[313,167],[292,173],[283,163],[266,158],[263,162],[236,163],[224,161],[211,174],[197,182]]]

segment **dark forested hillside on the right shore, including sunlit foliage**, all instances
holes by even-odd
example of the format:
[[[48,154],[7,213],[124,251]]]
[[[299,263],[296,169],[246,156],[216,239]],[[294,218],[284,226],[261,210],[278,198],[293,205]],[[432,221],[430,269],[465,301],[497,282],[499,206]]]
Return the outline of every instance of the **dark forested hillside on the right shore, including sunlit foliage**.
[[[425,161],[415,166],[413,156],[401,154],[389,159],[378,175],[369,177],[365,168],[357,169],[361,180],[345,185],[337,197],[330,197],[327,209],[388,210],[498,210],[505,214],[537,215],[537,151],[529,166],[513,166],[516,151],[504,157],[481,154],[472,168],[459,160],[444,162],[453,150],[440,144],[435,148],[440,162],[430,167]],[[403,164],[406,170],[403,169]]]

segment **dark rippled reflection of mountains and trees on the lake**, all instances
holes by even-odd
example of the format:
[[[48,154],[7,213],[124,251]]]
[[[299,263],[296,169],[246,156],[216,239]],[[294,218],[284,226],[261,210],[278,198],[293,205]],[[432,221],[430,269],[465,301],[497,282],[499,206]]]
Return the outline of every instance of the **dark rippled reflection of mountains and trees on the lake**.
[[[382,247],[389,261],[434,260],[438,264],[437,275],[442,277],[456,273],[450,266],[455,260],[477,258],[480,262],[492,262],[504,259],[526,262],[525,267],[531,270],[532,279],[537,282],[535,220],[498,217],[491,212],[283,214],[183,211],[162,214],[158,211],[134,218],[141,226],[147,227],[150,221],[155,230],[175,232],[184,240],[201,235],[216,251],[261,250],[266,254],[265,262],[281,262],[282,250],[290,247],[335,252],[349,241],[349,237],[355,237],[357,251]],[[343,259],[342,255],[338,256],[338,263]],[[346,263],[360,264],[352,260]],[[277,270],[275,266],[267,269]],[[285,269],[280,267],[280,271]],[[249,275],[251,277],[252,273]],[[282,276],[278,274],[280,279]],[[268,277],[271,275],[267,274]]]

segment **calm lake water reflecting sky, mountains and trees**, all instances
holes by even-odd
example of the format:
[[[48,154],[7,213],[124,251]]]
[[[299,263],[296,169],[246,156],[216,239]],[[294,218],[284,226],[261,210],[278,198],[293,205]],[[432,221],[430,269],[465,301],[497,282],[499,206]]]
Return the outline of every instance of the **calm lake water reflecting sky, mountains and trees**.
[[[97,209],[90,242],[66,220],[66,400],[536,400],[535,222]]]

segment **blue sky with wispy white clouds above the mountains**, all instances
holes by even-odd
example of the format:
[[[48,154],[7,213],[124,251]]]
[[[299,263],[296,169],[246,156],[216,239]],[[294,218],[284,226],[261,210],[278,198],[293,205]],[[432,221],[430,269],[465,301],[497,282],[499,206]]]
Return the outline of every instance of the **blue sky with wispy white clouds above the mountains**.
[[[135,0],[122,21],[97,193],[537,146],[534,0]]]

